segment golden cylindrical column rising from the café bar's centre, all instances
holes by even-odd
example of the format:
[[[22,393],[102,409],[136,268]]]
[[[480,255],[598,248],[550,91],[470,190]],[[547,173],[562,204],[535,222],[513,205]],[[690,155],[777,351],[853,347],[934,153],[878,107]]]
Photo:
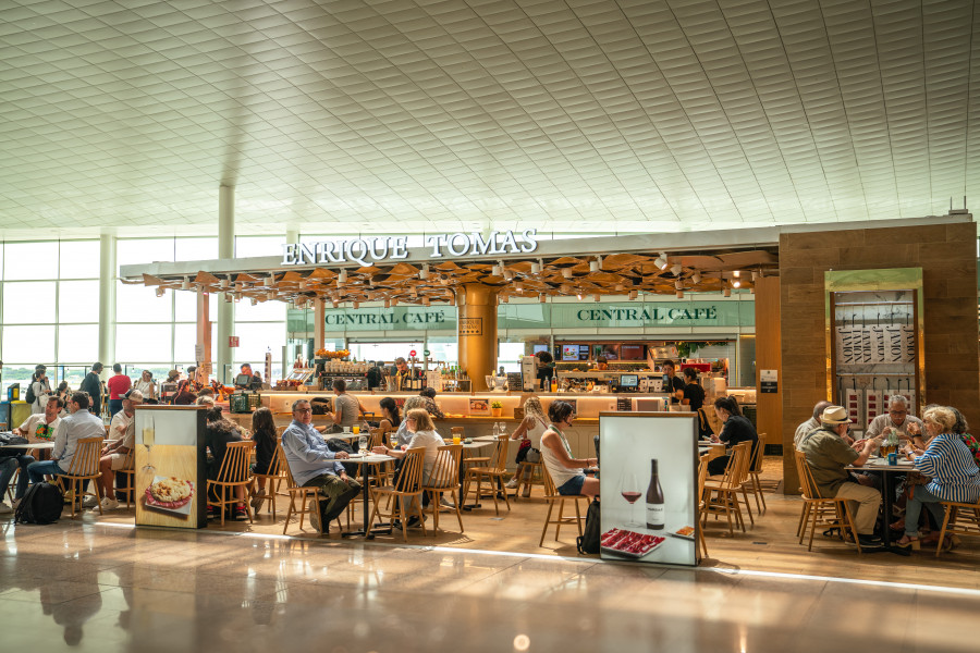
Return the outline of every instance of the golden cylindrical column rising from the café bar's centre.
[[[466,370],[473,390],[487,390],[487,380],[497,370],[498,288],[469,283],[456,288],[456,343],[460,367]]]

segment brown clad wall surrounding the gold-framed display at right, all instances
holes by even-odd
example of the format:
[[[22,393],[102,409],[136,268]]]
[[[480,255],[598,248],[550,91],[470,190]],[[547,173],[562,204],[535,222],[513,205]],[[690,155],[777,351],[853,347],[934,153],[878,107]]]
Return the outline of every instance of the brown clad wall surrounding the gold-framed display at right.
[[[826,397],[823,273],[922,268],[926,402],[959,408],[980,428],[977,329],[977,225],[856,229],[780,236],[783,471],[799,492],[793,434]],[[771,440],[772,442],[772,440]]]

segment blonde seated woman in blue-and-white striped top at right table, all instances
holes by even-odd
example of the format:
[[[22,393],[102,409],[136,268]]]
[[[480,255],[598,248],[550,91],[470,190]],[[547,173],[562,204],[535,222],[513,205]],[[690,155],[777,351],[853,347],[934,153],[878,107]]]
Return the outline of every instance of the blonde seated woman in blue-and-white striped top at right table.
[[[926,485],[916,485],[911,498],[905,507],[905,537],[898,546],[919,547],[918,523],[922,505],[932,513],[936,523],[943,522],[941,501],[976,503],[980,501],[980,469],[970,449],[953,433],[956,416],[948,408],[930,408],[922,417],[926,432],[930,438],[923,452],[912,448],[916,469],[932,480]]]

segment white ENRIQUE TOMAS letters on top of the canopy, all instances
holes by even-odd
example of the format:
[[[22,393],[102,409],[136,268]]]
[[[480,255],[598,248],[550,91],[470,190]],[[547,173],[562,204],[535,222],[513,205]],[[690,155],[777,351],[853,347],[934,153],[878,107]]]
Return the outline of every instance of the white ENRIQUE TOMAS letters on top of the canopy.
[[[458,258],[463,256],[498,256],[530,254],[538,248],[538,230],[526,229],[519,234],[513,231],[482,234],[456,232],[426,236],[429,258]],[[379,238],[346,238],[319,243],[291,243],[282,246],[283,266],[318,266],[330,263],[357,263],[367,268],[385,260],[408,258],[407,236]]]

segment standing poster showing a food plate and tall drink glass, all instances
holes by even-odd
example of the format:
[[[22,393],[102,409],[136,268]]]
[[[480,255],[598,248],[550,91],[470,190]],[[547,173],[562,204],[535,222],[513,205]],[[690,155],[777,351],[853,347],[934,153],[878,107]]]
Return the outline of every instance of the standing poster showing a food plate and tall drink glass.
[[[207,526],[205,409],[136,409],[136,526]]]

